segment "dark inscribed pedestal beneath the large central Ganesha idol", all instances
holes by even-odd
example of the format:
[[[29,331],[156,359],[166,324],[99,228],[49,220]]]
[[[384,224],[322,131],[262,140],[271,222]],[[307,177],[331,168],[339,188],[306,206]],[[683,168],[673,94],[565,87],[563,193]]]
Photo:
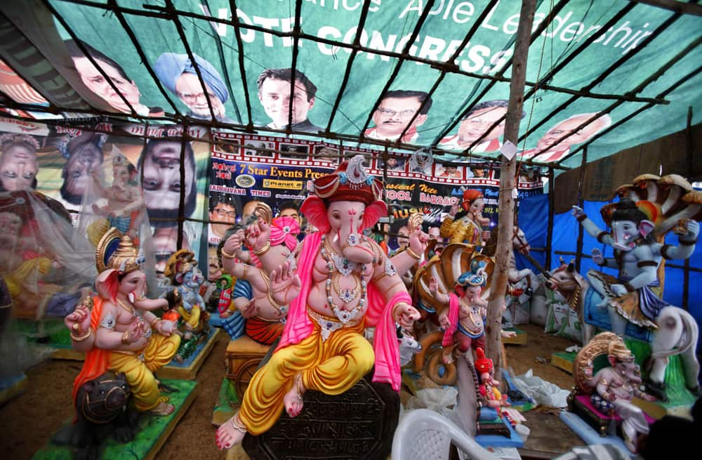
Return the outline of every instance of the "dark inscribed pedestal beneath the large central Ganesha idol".
[[[385,459],[399,419],[399,394],[389,384],[373,383],[373,372],[341,395],[304,394],[303,412],[283,413],[259,436],[246,435],[252,459]]]

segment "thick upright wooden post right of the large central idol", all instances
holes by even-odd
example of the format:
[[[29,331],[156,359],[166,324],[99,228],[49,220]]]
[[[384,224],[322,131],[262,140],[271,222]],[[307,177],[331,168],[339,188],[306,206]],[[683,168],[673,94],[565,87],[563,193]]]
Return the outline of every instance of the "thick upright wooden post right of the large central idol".
[[[505,122],[505,143],[510,141],[517,145],[519,137],[519,117],[524,105],[524,81],[527,79],[527,54],[529,53],[529,37],[534,23],[536,0],[523,0],[522,11],[519,13],[517,40],[515,41],[515,58],[510,82],[510,103]],[[501,335],[502,308],[505,305],[507,291],[507,270],[512,251],[512,235],[514,230],[514,200],[512,191],[515,190],[515,173],[517,166],[515,158],[508,160],[502,157],[500,173],[500,197],[498,216],[498,239],[496,266],[492,274],[492,294],[488,303],[487,321],[485,324],[485,354],[493,360],[495,377],[501,376]]]

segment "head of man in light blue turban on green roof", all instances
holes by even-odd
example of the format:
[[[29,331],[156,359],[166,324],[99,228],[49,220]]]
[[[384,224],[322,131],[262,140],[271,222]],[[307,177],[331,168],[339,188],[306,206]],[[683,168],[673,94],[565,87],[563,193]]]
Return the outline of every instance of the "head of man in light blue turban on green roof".
[[[217,121],[223,123],[234,123],[225,114],[224,103],[229,99],[229,91],[220,73],[206,60],[197,54],[192,55],[195,64],[200,71],[202,80],[205,83],[205,91],[209,96],[212,112]],[[161,80],[161,83],[168,88],[171,93],[176,93],[183,101],[190,112],[188,117],[194,119],[207,120],[212,118],[210,107],[207,103],[207,96],[203,91],[197,71],[187,54],[163,53],[154,63],[154,72]]]

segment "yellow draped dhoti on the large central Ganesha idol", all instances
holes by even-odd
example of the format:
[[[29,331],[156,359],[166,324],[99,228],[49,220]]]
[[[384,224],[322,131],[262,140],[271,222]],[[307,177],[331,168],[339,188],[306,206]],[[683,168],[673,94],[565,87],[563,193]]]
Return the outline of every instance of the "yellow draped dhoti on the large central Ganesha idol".
[[[362,335],[364,321],[337,329],[322,340],[322,329],[314,318],[321,315],[310,316],[312,334],[296,345],[277,350],[253,375],[239,411],[239,419],[249,433],[264,433],[277,421],[284,409],[283,397],[293,388],[296,374],[302,374],[307,390],[339,395],[373,367],[373,347]],[[336,318],[326,319],[338,324]]]

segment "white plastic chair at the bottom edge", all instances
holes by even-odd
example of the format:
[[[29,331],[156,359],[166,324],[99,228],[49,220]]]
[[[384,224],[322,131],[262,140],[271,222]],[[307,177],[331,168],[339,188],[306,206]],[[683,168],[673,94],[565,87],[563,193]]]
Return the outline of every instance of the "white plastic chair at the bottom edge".
[[[392,460],[448,460],[451,443],[472,460],[499,460],[456,423],[429,409],[413,410],[400,420]]]

